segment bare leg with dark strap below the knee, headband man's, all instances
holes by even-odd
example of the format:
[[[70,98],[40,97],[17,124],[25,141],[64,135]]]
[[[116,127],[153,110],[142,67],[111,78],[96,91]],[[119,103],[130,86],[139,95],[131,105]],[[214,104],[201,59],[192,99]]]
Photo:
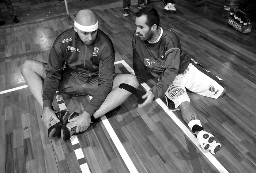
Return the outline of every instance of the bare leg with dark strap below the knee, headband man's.
[[[101,115],[113,110],[118,107],[132,94],[131,92],[119,88],[118,86],[122,83],[129,84],[134,88],[138,88],[139,83],[136,77],[132,74],[120,74],[113,81],[112,91],[108,94],[101,107],[94,112],[94,118],[98,118]]]

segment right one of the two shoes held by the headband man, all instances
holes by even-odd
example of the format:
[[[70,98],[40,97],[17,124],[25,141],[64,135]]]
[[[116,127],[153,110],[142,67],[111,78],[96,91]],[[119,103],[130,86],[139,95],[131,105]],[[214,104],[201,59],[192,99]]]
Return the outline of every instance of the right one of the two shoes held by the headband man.
[[[79,114],[74,112],[68,118],[68,120],[77,117]],[[76,122],[68,122],[66,125],[61,128],[61,137],[63,141],[67,141],[76,133]]]

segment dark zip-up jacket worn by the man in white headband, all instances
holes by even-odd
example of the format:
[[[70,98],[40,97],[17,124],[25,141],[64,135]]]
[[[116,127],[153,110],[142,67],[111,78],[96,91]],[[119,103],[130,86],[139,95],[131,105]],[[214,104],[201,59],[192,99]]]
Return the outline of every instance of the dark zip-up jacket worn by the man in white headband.
[[[98,89],[84,111],[93,114],[111,91],[114,73],[114,47],[109,36],[98,29],[91,45],[79,38],[74,28],[61,33],[53,43],[43,87],[44,107],[51,106],[59,86],[63,67],[66,72],[86,82],[98,77]]]

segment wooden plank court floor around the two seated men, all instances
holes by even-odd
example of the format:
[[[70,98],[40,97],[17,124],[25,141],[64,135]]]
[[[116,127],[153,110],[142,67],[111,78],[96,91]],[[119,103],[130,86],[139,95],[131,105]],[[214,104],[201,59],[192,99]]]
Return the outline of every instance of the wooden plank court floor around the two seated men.
[[[75,6],[69,8],[72,9],[71,21],[67,20],[64,6],[60,6],[63,8],[61,14],[61,9],[54,11],[48,5],[53,11],[52,16],[38,13],[32,20],[21,15],[20,23],[9,21],[0,27],[1,173],[82,172],[79,165],[83,159],[77,158],[75,153],[77,145],[70,140],[48,139],[47,129],[40,119],[42,108],[20,73],[20,66],[26,59],[47,62],[54,39],[73,26],[79,8],[84,8],[87,3],[87,8],[94,9],[99,28],[112,39],[116,70],[128,72],[125,63],[132,67],[132,34],[138,11],[134,4],[137,2],[132,1],[128,17],[123,16],[121,1],[113,0],[109,4],[103,0],[71,2],[77,5],[76,9],[73,9]],[[83,5],[79,6],[79,3]],[[180,111],[173,111],[174,116],[165,111],[159,105],[161,99],[138,108],[145,93],[144,86],[140,85],[124,104],[77,135],[80,154],[84,155],[90,172],[189,173],[200,170],[200,166],[204,173],[256,172],[255,26],[248,35],[228,26],[227,18],[223,16],[223,0],[208,0],[199,7],[193,6],[192,0],[176,0],[176,14],[164,11],[162,1],[152,1],[149,5],[158,10],[161,26],[176,32],[183,49],[225,82],[227,93],[217,100],[189,93],[204,128],[222,144],[221,150],[215,155],[201,151],[193,143],[194,139],[189,138],[191,132],[184,132],[183,126],[187,126]],[[154,85],[154,81],[148,81],[147,85]],[[62,96],[71,112],[81,111],[89,101],[83,96]],[[54,106],[57,107],[57,101]],[[181,124],[177,124],[175,118]],[[191,143],[197,149],[200,161],[197,167],[191,160],[195,154],[188,151]]]

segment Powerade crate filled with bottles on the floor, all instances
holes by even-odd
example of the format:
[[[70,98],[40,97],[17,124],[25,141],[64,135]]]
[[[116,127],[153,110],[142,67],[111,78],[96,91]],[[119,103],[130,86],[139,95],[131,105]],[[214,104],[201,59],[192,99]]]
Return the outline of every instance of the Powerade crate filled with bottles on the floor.
[[[246,14],[240,9],[236,11],[231,11],[228,21],[228,24],[233,26],[236,30],[240,31],[242,34],[250,34],[252,29],[252,23],[249,18],[246,17]]]

